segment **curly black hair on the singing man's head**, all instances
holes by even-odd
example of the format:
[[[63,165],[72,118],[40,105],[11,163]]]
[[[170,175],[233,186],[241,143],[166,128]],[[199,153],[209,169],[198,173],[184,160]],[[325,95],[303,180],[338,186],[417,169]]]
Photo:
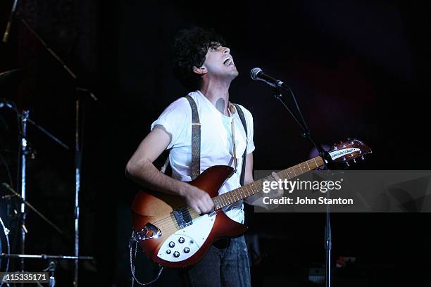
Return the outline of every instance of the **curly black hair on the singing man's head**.
[[[204,65],[208,49],[225,46],[225,40],[211,29],[192,27],[180,30],[175,37],[173,72],[181,84],[190,91],[201,87],[202,75],[193,72],[193,67]]]

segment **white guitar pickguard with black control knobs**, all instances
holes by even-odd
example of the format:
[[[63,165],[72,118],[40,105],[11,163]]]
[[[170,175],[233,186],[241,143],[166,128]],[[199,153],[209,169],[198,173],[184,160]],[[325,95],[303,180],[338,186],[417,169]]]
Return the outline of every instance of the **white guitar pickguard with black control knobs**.
[[[169,262],[180,262],[192,257],[208,238],[216,213],[193,219],[193,224],[169,236],[158,250],[157,256]]]

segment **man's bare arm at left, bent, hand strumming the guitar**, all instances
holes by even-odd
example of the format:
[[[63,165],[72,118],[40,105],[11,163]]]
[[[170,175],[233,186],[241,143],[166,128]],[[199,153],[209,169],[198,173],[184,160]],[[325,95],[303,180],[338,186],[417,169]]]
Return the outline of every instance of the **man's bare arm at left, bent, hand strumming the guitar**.
[[[197,213],[211,212],[214,208],[213,200],[205,191],[195,186],[168,177],[159,172],[153,165],[170,143],[171,136],[163,126],[157,125],[142,140],[141,144],[127,162],[126,175],[133,181],[150,189],[170,193],[185,198],[187,205]]]

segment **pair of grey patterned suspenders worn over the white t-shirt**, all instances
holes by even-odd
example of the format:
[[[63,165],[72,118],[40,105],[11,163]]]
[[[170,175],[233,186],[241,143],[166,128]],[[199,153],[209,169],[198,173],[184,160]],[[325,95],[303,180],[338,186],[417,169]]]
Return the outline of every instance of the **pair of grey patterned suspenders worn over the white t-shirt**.
[[[199,113],[197,110],[196,102],[192,96],[185,96],[187,101],[189,101],[190,108],[192,108],[192,180],[201,174],[201,123],[199,121]],[[249,136],[247,134],[247,125],[244,117],[244,112],[236,103],[232,103],[238,111],[239,119],[241,120],[242,126],[246,133],[246,147],[249,141]],[[242,155],[242,170],[241,176],[239,177],[239,184],[244,185],[245,177],[245,165],[246,165],[246,155],[247,148],[245,148],[244,154]],[[169,156],[165,161],[165,164],[161,168],[161,172],[165,172],[166,167],[169,165]]]

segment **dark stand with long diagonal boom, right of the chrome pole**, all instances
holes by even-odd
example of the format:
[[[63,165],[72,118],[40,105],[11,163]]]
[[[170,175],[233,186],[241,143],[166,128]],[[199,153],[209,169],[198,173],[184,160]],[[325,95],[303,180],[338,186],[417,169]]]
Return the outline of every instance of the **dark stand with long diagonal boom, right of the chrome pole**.
[[[51,54],[53,58],[56,59],[56,61],[63,67],[63,69],[68,72],[68,75],[72,77],[75,81],[77,80],[76,74],[68,68],[68,65],[64,63],[64,61],[44,42],[42,37],[35,32],[35,30],[28,25],[28,23],[20,16],[19,13],[16,15],[17,18],[20,19],[20,21],[27,27],[27,30],[33,34],[33,36],[36,37],[36,39],[39,41],[40,44],[44,47],[46,51]],[[92,98],[94,101],[97,101],[98,99],[92,91],[89,89],[85,89],[83,87],[75,86],[76,91],[76,101],[75,101],[75,257],[79,257],[79,250],[80,250],[80,237],[79,237],[79,219],[80,219],[80,202],[79,202],[79,195],[80,195],[80,174],[81,174],[81,167],[82,167],[82,148],[81,148],[81,129],[82,129],[82,113],[81,113],[81,101],[82,101],[82,93],[87,94],[90,98]],[[78,259],[75,260],[75,271],[73,276],[73,286],[78,285]]]

